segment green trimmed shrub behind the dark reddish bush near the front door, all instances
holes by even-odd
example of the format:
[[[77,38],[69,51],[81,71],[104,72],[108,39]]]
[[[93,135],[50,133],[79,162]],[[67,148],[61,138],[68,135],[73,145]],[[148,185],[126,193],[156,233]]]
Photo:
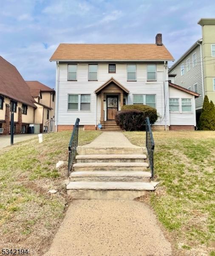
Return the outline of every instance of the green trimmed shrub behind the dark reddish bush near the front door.
[[[158,119],[156,109],[152,108],[150,106],[141,105],[141,104],[122,106],[122,110],[128,110],[128,109],[130,109],[130,110],[136,109],[136,110],[144,112],[143,118],[145,119],[148,116],[151,124],[154,124]]]

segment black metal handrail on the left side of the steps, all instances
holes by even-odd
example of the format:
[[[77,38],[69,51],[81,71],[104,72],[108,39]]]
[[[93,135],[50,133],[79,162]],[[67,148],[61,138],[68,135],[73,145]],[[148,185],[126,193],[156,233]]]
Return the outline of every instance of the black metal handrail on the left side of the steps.
[[[76,148],[77,148],[77,145],[78,145],[79,122],[80,122],[80,119],[77,118],[76,122],[75,122],[75,125],[73,127],[73,131],[72,131],[72,134],[71,134],[69,145],[68,145],[68,150],[69,150],[68,175],[69,175],[69,172],[71,172],[72,165],[73,165],[73,162],[74,162],[74,159],[75,159],[75,156],[76,156]]]

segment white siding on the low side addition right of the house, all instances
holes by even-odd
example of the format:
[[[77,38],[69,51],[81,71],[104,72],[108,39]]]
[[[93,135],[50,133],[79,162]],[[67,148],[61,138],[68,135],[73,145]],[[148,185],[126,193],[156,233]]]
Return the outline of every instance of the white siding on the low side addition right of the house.
[[[194,125],[195,122],[195,98],[190,93],[178,90],[173,87],[169,87],[170,98],[179,98],[181,101],[182,98],[189,98],[192,102],[192,112],[190,113],[176,113],[170,111],[170,125]],[[181,104],[179,104],[179,110],[181,112]]]

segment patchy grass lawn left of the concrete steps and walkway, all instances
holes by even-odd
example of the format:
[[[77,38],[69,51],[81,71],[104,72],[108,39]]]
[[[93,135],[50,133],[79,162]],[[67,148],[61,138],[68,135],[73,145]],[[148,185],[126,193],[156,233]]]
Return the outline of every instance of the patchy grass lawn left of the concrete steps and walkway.
[[[79,131],[79,145],[101,132]],[[0,151],[0,249],[25,248],[42,255],[64,217],[71,132],[44,135]],[[65,165],[56,169],[59,160]],[[48,190],[56,189],[57,194]]]

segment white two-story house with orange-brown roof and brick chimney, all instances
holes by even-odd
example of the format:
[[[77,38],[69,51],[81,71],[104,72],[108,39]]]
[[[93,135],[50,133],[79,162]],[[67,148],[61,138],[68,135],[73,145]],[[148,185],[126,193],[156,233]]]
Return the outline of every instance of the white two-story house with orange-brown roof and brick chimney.
[[[57,62],[57,131],[77,117],[86,129],[105,127],[127,104],[156,108],[154,129],[194,129],[198,93],[168,82],[173,60],[161,34],[156,44],[60,44],[50,59]]]

